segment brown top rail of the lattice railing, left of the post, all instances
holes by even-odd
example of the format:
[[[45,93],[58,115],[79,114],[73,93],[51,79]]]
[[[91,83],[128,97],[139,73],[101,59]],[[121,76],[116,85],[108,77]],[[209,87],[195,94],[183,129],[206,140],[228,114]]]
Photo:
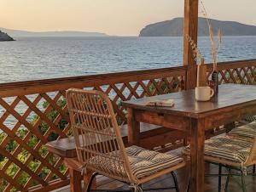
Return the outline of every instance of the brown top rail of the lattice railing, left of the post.
[[[161,69],[127,71],[118,73],[98,74],[90,76],[72,76],[35,80],[27,82],[0,83],[0,97],[19,96],[24,94],[54,92],[55,90],[66,90],[67,88],[83,88],[108,85],[111,83],[132,82],[148,80],[148,78],[185,76],[186,67],[169,67]]]

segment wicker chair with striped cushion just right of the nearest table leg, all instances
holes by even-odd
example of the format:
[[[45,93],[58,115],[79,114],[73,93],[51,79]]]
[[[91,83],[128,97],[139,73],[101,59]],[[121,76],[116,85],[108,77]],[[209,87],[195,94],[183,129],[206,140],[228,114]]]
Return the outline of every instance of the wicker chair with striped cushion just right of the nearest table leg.
[[[190,146],[187,146],[183,153],[190,154]],[[228,135],[210,138],[205,142],[205,160],[219,166],[218,191],[221,191],[221,177],[228,176],[225,184],[225,191],[228,189],[231,176],[241,176],[242,191],[246,192],[244,176],[247,174],[247,167],[256,163],[256,138],[252,141],[230,137]],[[222,167],[227,167],[228,174],[222,173]],[[239,171],[234,174],[231,170]],[[208,175],[214,176],[214,175]]]

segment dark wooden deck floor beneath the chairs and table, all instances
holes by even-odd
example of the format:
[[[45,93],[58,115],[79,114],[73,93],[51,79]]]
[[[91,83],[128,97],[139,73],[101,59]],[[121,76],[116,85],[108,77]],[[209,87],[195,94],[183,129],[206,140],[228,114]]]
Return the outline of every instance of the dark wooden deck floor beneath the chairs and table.
[[[206,169],[208,173],[218,173],[218,167],[214,165],[206,165]],[[179,183],[179,187],[181,192],[185,191],[185,187],[187,184],[187,178],[188,175],[186,173],[185,168],[177,172],[177,180]],[[224,191],[224,183],[225,183],[225,177],[222,179],[222,191]],[[113,179],[105,178],[102,176],[99,176],[96,178],[96,183],[97,183],[97,189],[128,189],[128,186],[125,186],[122,183],[119,183]],[[246,177],[246,184],[247,184],[247,192],[255,192],[256,191],[256,177],[253,176],[247,176]],[[163,176],[161,178],[154,179],[151,182],[148,182],[148,184],[144,184],[143,188],[144,189],[154,189],[154,188],[160,188],[160,187],[168,187],[168,186],[173,186],[173,181],[172,181],[172,176],[171,174]],[[55,192],[69,192],[69,188],[62,188],[55,190]],[[168,189],[164,191],[175,191],[174,189]],[[206,183],[205,183],[205,191],[206,192],[217,192],[218,191],[218,178],[217,177],[207,177],[206,178]],[[230,192],[239,192],[241,191],[239,184],[236,183],[234,179],[231,179],[230,181],[230,187],[229,187]]]

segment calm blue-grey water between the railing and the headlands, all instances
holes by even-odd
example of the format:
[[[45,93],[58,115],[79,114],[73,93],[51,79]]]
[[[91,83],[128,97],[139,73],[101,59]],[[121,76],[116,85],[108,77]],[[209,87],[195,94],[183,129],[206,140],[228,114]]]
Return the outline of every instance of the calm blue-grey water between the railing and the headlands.
[[[0,83],[182,65],[182,37],[50,37],[0,42]],[[210,59],[208,37],[199,40]],[[224,37],[219,60],[255,59],[256,37]]]

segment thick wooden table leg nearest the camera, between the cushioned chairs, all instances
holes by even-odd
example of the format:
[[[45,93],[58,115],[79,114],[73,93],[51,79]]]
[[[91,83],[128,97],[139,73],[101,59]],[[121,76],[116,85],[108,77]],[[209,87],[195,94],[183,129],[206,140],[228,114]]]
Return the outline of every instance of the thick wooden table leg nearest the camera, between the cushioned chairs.
[[[205,178],[204,144],[205,120],[192,119],[190,123],[190,191],[203,192]]]

